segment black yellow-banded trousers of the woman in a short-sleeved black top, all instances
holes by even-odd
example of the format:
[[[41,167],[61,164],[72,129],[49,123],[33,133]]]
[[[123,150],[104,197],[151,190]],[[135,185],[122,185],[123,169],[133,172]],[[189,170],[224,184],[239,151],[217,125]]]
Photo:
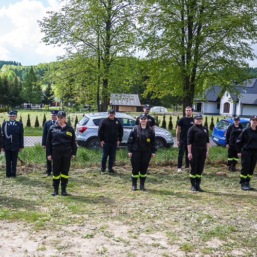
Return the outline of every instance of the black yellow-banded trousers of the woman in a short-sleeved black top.
[[[190,181],[201,180],[201,174],[203,173],[205,167],[206,152],[207,149],[203,148],[191,149],[193,158],[190,161]]]

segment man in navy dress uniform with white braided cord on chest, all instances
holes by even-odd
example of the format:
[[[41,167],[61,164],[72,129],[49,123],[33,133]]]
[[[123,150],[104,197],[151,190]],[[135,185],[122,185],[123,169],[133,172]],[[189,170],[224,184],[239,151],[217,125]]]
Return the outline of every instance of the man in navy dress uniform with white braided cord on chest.
[[[3,122],[2,125],[4,145],[1,149],[5,152],[6,178],[16,177],[18,154],[24,148],[23,123],[16,121],[16,111],[11,110],[8,114],[9,121]]]

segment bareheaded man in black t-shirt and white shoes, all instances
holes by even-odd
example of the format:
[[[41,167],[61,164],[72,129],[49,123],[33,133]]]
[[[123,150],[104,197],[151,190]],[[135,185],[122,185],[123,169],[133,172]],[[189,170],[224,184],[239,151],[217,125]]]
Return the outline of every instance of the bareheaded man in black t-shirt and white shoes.
[[[177,158],[177,168],[178,172],[181,171],[183,156],[186,151],[186,166],[185,168],[189,168],[189,159],[188,159],[188,144],[187,144],[187,137],[188,137],[188,130],[191,126],[194,125],[194,119],[191,117],[192,115],[192,108],[190,106],[186,107],[186,116],[180,118],[177,123],[177,145],[178,145],[178,158]],[[180,136],[179,136],[179,131]]]

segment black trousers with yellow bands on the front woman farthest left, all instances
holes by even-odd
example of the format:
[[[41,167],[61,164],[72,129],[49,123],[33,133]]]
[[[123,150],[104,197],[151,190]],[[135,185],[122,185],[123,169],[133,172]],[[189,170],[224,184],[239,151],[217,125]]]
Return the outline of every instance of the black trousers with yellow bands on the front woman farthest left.
[[[52,150],[52,185],[59,186],[68,183],[71,150]]]

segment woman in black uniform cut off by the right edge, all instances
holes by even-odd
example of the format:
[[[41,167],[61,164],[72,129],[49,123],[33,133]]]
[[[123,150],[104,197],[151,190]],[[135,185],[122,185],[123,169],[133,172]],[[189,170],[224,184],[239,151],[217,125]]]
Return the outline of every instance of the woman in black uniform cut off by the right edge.
[[[253,190],[250,187],[250,180],[256,165],[257,160],[257,116],[250,117],[250,125],[245,127],[243,132],[237,138],[235,148],[238,151],[238,156],[241,158],[241,189]],[[243,148],[243,151],[242,151]]]

